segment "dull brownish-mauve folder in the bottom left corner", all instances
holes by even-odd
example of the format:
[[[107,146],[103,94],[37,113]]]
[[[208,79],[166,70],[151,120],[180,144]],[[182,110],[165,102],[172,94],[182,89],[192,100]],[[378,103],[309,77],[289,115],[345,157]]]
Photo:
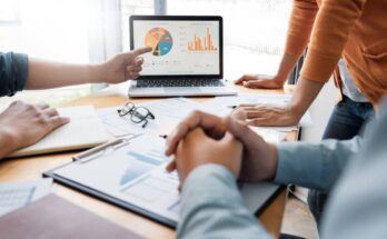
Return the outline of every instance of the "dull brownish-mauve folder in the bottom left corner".
[[[137,239],[141,237],[58,196],[50,195],[1,217],[0,238]]]

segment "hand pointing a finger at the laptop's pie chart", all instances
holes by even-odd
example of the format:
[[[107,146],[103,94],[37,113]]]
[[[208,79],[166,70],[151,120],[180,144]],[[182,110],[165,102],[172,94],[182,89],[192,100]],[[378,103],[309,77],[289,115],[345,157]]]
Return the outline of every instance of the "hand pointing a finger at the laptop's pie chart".
[[[142,70],[143,53],[150,52],[151,48],[139,48],[133,51],[116,54],[102,63],[101,72],[106,83],[120,83],[128,79],[132,80],[140,76]]]

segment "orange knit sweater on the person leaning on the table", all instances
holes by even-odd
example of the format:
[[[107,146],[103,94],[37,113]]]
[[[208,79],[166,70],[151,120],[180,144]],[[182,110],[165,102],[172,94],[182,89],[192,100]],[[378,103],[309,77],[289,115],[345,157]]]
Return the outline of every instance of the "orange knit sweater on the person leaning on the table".
[[[343,56],[370,102],[387,93],[387,0],[295,0],[285,51],[306,46],[305,79],[326,82]]]

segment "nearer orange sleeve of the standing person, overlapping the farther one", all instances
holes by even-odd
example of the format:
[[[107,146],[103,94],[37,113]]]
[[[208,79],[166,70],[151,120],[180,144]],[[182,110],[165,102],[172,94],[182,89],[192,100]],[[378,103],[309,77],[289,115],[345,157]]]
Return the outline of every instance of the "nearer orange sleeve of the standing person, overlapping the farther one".
[[[354,26],[361,17],[366,0],[325,0],[316,17],[308,53],[300,74],[326,82],[335,71]]]

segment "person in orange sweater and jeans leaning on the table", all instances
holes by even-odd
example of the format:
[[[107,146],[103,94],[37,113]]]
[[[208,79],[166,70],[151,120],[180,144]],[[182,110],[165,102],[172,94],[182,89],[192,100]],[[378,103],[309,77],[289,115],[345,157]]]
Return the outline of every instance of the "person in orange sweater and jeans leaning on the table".
[[[272,78],[246,74],[236,81],[248,88],[281,88],[308,44],[294,98],[285,108],[247,106],[240,110],[247,112],[254,125],[296,125],[343,57],[334,74],[341,100],[322,139],[350,139],[358,135],[364,122],[373,117],[376,99],[387,92],[386,16],[387,2],[381,0],[295,1],[278,73]],[[315,190],[308,196],[317,221],[326,199],[326,193]]]

